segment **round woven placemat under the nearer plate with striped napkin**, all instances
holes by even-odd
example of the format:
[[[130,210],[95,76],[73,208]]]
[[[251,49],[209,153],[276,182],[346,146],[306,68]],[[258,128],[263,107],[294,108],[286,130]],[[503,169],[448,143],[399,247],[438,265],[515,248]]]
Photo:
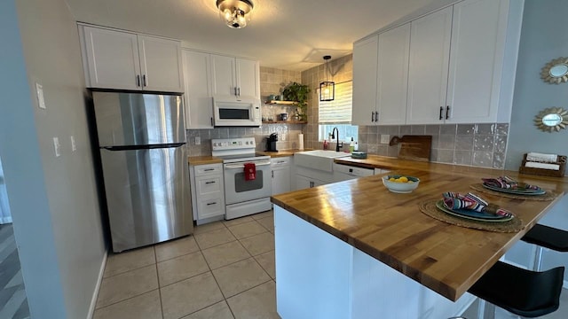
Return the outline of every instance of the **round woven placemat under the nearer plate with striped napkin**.
[[[489,230],[495,232],[517,232],[525,228],[523,221],[514,217],[508,222],[481,222],[446,214],[436,207],[437,199],[428,200],[419,204],[420,211],[441,222],[466,227],[475,230]]]

